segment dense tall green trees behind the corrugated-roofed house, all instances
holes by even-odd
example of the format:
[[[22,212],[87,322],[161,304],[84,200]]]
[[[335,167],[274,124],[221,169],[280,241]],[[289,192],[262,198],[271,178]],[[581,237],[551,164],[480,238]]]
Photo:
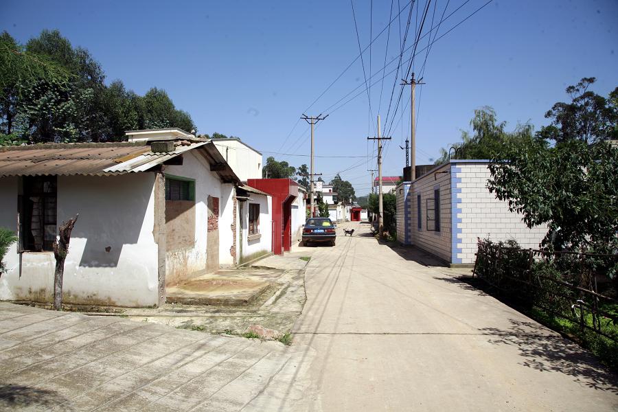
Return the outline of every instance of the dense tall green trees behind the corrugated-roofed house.
[[[109,86],[100,64],[57,30],[43,30],[22,46],[0,36],[0,144],[110,141],[125,130],[195,128],[165,91],[144,97],[119,80]]]

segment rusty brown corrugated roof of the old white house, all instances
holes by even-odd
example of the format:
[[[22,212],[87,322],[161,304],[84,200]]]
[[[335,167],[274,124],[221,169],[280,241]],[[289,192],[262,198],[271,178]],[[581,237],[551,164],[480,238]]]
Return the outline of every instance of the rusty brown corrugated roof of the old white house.
[[[211,170],[227,183],[240,183],[225,159],[207,141],[179,141],[173,152],[152,152],[146,142],[100,144],[37,144],[0,147],[0,177],[70,176],[85,174],[106,176],[146,172],[189,150],[199,150],[209,160]]]

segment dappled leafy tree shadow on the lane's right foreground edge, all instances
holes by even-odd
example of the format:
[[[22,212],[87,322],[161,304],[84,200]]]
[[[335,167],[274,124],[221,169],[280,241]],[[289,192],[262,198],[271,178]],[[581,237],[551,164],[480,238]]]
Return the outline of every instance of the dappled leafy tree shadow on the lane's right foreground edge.
[[[536,322],[516,319],[509,322],[508,330],[481,328],[480,331],[496,336],[489,343],[517,347],[523,357],[520,365],[540,372],[560,372],[572,376],[582,386],[618,394],[618,376],[576,343],[561,336],[548,336],[547,330]]]

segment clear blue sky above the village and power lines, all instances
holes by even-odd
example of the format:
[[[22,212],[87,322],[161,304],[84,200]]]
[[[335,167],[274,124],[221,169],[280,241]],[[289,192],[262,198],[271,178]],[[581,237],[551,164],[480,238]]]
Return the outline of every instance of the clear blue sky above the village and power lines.
[[[434,25],[448,2],[450,14],[466,0],[436,0],[423,33]],[[438,36],[477,10],[486,0],[469,0],[440,25]],[[393,1],[404,9],[408,0]],[[358,35],[364,48],[389,21],[391,1],[354,0]],[[425,1],[420,1],[419,14]],[[367,135],[391,121],[388,103],[395,80],[371,87],[369,104],[361,61],[350,67],[315,104],[310,104],[359,54],[349,1],[12,1],[3,0],[0,29],[25,43],[41,30],[58,29],[73,45],[91,52],[106,72],[137,93],[150,87],[168,91],[177,107],[189,112],[201,133],[225,133],[268,152],[308,155],[308,126],[301,113],[330,113],[335,102],[356,87],[360,95],[332,112],[316,129],[317,172],[325,180],[342,171],[357,194],[369,191],[375,159]],[[417,5],[413,30],[417,27]],[[371,23],[370,25],[370,15]],[[371,73],[384,65],[387,32],[371,46]],[[398,20],[391,25],[387,61],[398,56]],[[594,90],[606,95],[618,85],[618,1],[492,1],[444,38],[428,54],[424,82],[417,94],[417,163],[429,163],[439,148],[459,140],[475,108],[492,106],[499,119],[514,128],[543,117],[554,102],[567,100],[564,89],[582,77],[595,76]],[[419,49],[427,45],[428,36]],[[409,52],[404,60],[409,58]],[[415,59],[420,71],[425,52]],[[369,50],[363,54],[369,73]],[[396,67],[389,66],[389,69]],[[387,69],[387,71],[389,70]],[[369,74],[367,74],[369,76]],[[401,76],[401,75],[400,75]],[[379,79],[376,74],[374,79]],[[400,91],[396,81],[393,107]],[[343,100],[345,102],[346,100]],[[403,104],[409,101],[404,90]],[[310,107],[309,107],[310,106]],[[392,112],[391,108],[391,112]],[[409,107],[400,108],[385,148],[385,175],[401,174],[404,152],[398,146],[409,135]],[[393,118],[392,113],[389,115]],[[397,126],[396,126],[397,125]],[[292,165],[307,157],[275,155]],[[347,170],[349,169],[349,170]]]

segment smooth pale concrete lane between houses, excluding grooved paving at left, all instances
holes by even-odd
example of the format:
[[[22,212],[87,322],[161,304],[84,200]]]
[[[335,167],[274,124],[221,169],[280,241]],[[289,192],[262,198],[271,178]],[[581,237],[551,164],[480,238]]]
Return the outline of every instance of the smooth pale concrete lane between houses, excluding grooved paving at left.
[[[307,266],[293,332],[308,410],[618,411],[617,376],[586,351],[368,227]]]

